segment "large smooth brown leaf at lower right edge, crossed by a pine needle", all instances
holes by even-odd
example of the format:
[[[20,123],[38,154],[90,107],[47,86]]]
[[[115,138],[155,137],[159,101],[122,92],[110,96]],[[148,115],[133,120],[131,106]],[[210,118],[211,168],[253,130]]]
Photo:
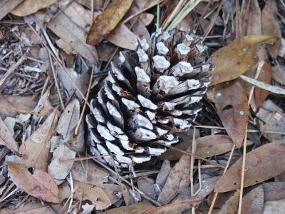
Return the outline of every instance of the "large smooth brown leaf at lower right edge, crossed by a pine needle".
[[[247,153],[244,187],[260,183],[285,170],[285,140],[267,143]],[[242,158],[234,163],[217,181],[214,191],[223,193],[240,187]]]

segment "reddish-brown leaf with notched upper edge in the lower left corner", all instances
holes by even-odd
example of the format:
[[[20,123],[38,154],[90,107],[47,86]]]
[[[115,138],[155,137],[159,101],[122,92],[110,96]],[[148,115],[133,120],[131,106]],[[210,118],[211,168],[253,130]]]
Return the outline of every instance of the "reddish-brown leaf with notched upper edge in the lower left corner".
[[[51,175],[41,170],[35,170],[31,175],[24,165],[17,163],[6,162],[6,165],[9,167],[11,180],[28,195],[52,203],[61,202],[61,199],[58,198],[58,187]]]

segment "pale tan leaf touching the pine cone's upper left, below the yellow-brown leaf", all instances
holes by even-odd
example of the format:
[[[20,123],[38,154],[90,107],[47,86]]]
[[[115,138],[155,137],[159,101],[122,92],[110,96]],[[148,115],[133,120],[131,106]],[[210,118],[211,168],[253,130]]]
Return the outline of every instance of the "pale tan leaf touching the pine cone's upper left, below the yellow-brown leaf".
[[[120,23],[118,26],[106,37],[106,40],[119,46],[123,49],[135,50],[135,41],[138,37],[128,29],[125,24]]]

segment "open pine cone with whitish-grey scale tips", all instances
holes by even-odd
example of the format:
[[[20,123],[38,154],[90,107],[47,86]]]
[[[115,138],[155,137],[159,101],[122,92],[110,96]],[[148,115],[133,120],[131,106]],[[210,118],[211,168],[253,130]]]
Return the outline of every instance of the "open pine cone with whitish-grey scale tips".
[[[201,38],[172,29],[138,42],[136,53],[120,53],[86,117],[93,155],[115,154],[119,168],[149,161],[177,143],[190,128],[211,75]],[[110,156],[102,161],[113,165]]]

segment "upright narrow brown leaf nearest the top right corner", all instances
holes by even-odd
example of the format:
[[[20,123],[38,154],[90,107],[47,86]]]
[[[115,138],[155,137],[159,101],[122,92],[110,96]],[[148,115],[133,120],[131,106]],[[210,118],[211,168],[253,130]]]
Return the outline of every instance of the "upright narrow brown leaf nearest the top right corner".
[[[277,8],[275,1],[266,1],[264,9],[262,10],[262,34],[278,38],[273,46],[268,47],[272,58],[278,56],[281,45],[281,29],[276,19],[276,14]]]

